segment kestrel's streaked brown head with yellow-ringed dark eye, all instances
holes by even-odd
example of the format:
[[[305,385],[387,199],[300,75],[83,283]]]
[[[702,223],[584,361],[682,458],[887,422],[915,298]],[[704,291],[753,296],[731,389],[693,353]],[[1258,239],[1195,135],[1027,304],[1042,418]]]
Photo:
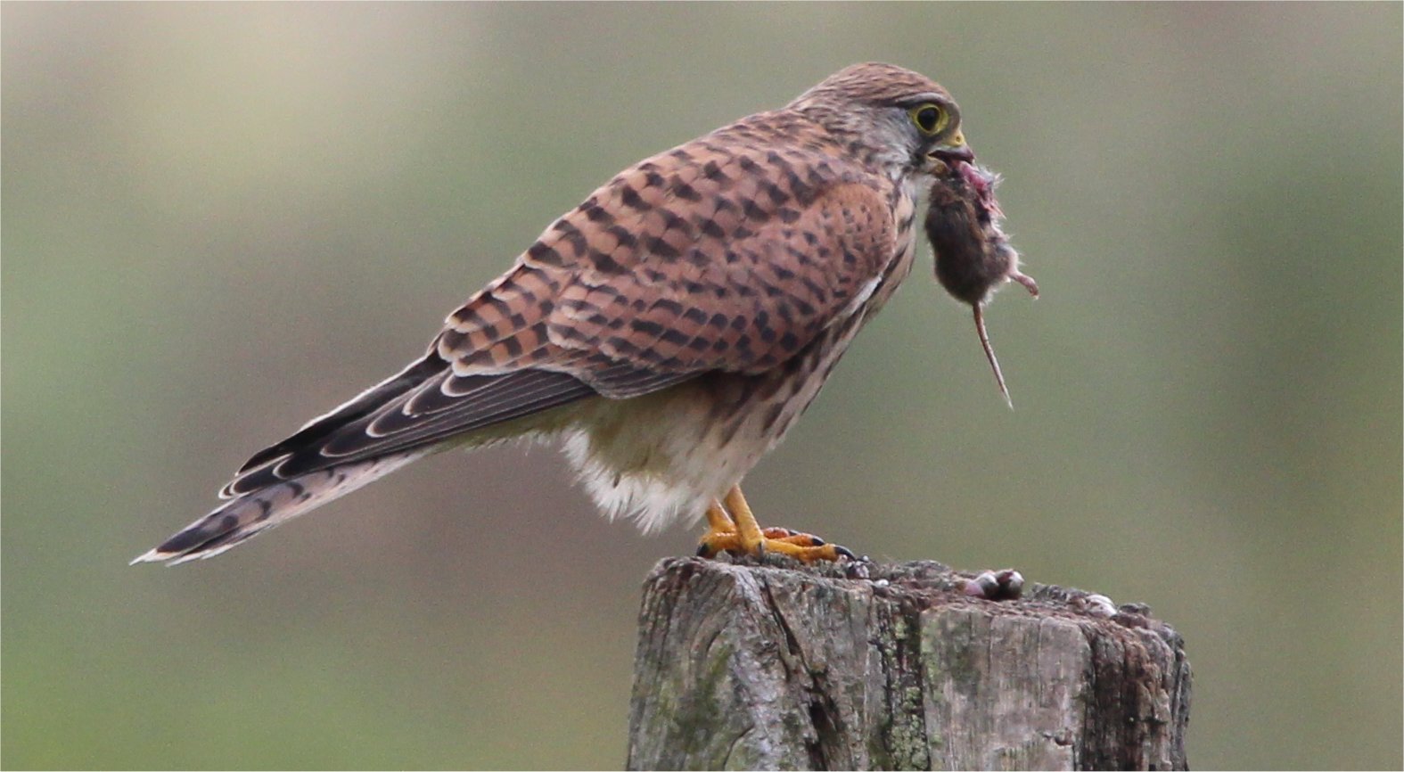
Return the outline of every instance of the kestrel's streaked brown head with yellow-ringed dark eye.
[[[974,160],[960,108],[936,81],[893,65],[845,67],[789,105],[894,180],[955,174]]]

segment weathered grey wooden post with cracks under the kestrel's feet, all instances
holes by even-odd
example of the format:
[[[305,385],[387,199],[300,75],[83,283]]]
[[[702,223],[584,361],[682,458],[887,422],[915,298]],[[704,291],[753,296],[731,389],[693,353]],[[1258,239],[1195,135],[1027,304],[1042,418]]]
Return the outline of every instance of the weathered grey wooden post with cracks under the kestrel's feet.
[[[1189,663],[1144,606],[987,601],[929,561],[762,563],[649,575],[630,769],[1186,768]]]

